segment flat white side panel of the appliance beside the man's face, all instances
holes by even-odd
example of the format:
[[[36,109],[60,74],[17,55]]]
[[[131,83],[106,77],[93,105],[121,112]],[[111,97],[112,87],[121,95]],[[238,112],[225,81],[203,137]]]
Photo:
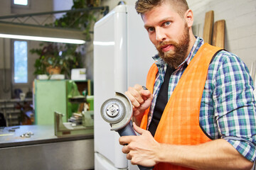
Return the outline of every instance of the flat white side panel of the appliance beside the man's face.
[[[154,63],[152,57],[157,51],[149,40],[142,17],[137,14],[134,6],[127,6],[127,9],[128,86],[146,85],[146,74]]]

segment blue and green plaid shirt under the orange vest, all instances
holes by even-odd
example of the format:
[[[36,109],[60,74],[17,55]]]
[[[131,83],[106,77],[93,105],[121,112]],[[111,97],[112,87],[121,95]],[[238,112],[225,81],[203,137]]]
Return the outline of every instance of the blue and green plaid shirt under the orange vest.
[[[196,38],[186,60],[171,74],[170,98],[178,80],[189,62],[203,45],[202,38]],[[156,104],[161,84],[164,82],[166,63],[158,56],[153,57],[159,69],[154,84],[153,101],[149,111],[149,123]],[[256,115],[253,82],[249,71],[240,58],[230,52],[221,51],[208,68],[200,109],[200,125],[212,139],[227,140],[245,158],[254,161],[256,157]]]

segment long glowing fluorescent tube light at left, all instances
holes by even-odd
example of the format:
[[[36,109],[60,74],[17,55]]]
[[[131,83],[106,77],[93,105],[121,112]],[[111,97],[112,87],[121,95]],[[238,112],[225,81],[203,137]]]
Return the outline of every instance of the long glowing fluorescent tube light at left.
[[[63,42],[63,43],[70,43],[70,44],[85,44],[85,40],[76,40],[76,39],[68,39],[68,38],[48,38],[48,37],[11,35],[11,34],[0,34],[0,37],[21,39],[21,40],[38,40],[38,41],[47,41],[47,42]]]

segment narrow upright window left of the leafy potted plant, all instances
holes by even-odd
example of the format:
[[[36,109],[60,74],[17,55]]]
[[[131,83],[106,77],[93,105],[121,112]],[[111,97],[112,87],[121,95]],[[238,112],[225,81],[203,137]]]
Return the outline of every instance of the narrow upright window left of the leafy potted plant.
[[[28,83],[28,42],[14,40],[14,83]]]

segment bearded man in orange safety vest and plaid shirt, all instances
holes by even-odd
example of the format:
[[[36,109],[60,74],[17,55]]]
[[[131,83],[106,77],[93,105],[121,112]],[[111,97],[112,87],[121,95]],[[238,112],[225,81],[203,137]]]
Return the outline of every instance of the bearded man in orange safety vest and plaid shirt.
[[[127,159],[161,170],[251,169],[255,99],[245,64],[193,35],[186,0],[139,0],[136,9],[159,55],[149,90],[125,92],[141,134],[119,138]]]

